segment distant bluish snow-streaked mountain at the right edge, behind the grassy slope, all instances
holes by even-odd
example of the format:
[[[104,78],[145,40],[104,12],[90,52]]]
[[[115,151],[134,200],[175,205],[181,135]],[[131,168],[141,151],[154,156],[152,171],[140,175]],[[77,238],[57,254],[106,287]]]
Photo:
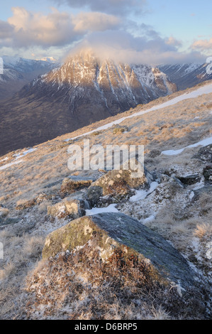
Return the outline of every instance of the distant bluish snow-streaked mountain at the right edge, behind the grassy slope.
[[[175,64],[160,65],[158,68],[164,72],[169,80],[177,85],[178,90],[185,90],[199,83],[212,79],[212,74],[206,72],[208,63],[205,64]]]

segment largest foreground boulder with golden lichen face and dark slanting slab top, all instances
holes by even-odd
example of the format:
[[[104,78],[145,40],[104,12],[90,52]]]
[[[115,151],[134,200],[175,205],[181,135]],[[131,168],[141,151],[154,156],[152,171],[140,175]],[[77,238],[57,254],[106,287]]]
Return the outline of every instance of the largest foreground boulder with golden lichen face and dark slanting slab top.
[[[85,216],[52,232],[45,241],[43,259],[92,243],[102,261],[116,249],[135,255],[152,266],[155,279],[187,289],[194,286],[194,272],[184,257],[160,235],[122,213]]]

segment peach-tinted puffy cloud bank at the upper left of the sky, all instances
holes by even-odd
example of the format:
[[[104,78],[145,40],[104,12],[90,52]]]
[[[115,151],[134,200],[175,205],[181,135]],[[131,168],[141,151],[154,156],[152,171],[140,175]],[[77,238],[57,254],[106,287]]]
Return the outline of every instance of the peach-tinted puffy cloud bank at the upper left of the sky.
[[[8,22],[0,21],[0,44],[16,48],[40,45],[60,46],[79,41],[89,31],[104,31],[117,28],[121,19],[104,13],[79,13],[77,16],[60,12],[55,8],[50,14],[27,11],[23,7],[13,7],[13,16]]]

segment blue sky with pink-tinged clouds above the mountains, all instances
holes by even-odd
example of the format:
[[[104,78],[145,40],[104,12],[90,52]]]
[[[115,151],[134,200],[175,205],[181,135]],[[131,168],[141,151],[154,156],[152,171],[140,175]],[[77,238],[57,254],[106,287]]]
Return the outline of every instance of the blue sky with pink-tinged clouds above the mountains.
[[[0,55],[64,60],[82,48],[128,63],[204,63],[209,0],[0,0]]]

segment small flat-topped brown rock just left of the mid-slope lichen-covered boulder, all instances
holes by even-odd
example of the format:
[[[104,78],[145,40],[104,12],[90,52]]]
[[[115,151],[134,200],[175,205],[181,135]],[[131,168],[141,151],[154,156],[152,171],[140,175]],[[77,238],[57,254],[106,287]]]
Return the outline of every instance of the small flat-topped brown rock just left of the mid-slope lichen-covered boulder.
[[[83,178],[83,177],[79,178],[72,176],[70,178],[65,178],[62,181],[60,191],[62,194],[71,194],[75,190],[88,188],[92,182],[93,182],[92,178]]]

